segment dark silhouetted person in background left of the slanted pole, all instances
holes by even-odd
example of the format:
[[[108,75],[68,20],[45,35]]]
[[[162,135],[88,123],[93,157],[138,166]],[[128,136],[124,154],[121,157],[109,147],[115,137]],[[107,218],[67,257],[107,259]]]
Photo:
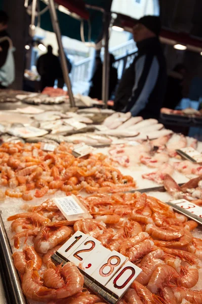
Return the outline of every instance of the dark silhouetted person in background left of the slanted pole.
[[[59,60],[53,55],[52,46],[47,47],[48,52],[37,60],[36,68],[41,76],[41,91],[46,87],[53,87],[58,75]]]

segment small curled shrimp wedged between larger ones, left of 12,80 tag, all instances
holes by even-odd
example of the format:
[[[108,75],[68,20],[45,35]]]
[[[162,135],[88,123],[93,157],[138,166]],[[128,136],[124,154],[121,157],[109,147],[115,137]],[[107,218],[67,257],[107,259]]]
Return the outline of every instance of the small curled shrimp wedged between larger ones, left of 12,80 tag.
[[[48,265],[48,269],[44,272],[44,284],[49,288],[61,288],[64,287],[64,280],[60,275],[61,265],[57,268],[53,263]]]

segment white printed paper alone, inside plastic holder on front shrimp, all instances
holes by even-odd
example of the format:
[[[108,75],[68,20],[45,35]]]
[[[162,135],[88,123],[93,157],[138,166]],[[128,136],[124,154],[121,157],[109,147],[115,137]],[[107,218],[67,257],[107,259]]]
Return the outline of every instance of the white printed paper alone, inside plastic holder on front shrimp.
[[[54,202],[65,217],[85,213],[72,196],[55,198]]]

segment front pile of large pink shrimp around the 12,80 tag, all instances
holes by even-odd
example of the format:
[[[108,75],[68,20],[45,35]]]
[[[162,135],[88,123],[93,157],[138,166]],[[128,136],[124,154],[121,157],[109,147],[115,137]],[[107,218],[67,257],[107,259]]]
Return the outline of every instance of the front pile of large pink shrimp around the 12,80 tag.
[[[68,221],[52,200],[8,218],[16,248],[25,237],[23,250],[13,259],[27,298],[49,304],[103,302],[83,289],[83,277],[73,263],[61,267],[51,261],[51,255],[79,230],[142,269],[120,304],[178,304],[183,299],[202,303],[202,290],[193,290],[202,260],[202,241],[191,234],[196,222],[139,192],[77,198],[92,219]]]

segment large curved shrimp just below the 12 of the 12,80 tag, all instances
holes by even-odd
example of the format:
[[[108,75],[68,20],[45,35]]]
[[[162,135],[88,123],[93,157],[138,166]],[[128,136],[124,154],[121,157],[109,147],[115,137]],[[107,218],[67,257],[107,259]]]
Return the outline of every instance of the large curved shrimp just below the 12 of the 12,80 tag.
[[[61,269],[61,276],[64,278],[65,285],[56,290],[56,298],[61,299],[82,291],[84,276],[79,272],[76,265],[67,262]]]

